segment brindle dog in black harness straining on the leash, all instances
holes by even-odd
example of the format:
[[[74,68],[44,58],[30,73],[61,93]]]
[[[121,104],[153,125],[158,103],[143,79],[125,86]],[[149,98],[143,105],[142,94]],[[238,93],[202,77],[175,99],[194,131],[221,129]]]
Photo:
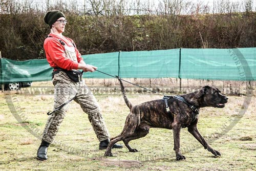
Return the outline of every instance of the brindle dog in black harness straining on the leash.
[[[177,160],[185,159],[185,156],[180,152],[180,130],[182,127],[187,127],[188,132],[209,152],[215,156],[221,156],[220,152],[211,148],[200,135],[197,129],[198,115],[189,108],[189,105],[194,105],[197,109],[206,106],[224,108],[228,98],[222,95],[217,88],[205,86],[199,91],[181,95],[185,102],[176,98],[169,98],[167,105],[170,112],[167,112],[165,102],[162,99],[133,105],[125,95],[122,81],[120,79],[119,81],[124,101],[130,108],[130,114],[126,117],[121,134],[111,138],[111,141],[106,148],[105,156],[112,156],[111,148],[118,141],[123,141],[130,152],[138,152],[137,149],[134,149],[129,145],[129,142],[146,136],[151,127],[173,130],[174,151]]]

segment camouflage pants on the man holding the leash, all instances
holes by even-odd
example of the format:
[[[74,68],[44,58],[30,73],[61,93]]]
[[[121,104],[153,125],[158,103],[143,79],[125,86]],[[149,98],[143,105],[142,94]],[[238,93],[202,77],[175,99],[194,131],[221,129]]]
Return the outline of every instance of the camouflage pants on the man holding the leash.
[[[101,116],[98,102],[88,87],[83,82],[72,81],[66,73],[60,71],[54,75],[54,109],[73,98],[74,101],[80,104],[82,110],[88,114],[89,121],[93,126],[93,130],[99,141],[110,138],[109,132]],[[69,104],[66,104],[60,110],[49,115],[47,120],[42,140],[52,143],[58,132],[59,126],[69,109]]]

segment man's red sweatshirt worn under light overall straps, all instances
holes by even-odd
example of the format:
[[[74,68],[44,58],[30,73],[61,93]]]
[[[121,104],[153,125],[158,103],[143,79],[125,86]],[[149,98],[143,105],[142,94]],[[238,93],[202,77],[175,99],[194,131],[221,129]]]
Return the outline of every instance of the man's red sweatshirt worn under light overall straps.
[[[63,36],[60,38],[59,36],[56,36],[54,34],[49,34],[44,42],[44,49],[46,52],[46,58],[49,62],[50,66],[53,68],[59,67],[66,70],[77,70],[78,63],[83,60],[81,57],[81,54],[79,51],[75,48],[76,51],[76,57],[77,61],[71,60],[69,58],[66,58],[65,56],[65,48],[63,45],[60,44],[59,39],[65,42],[65,44],[69,47],[74,47],[72,42],[74,42],[72,39]]]

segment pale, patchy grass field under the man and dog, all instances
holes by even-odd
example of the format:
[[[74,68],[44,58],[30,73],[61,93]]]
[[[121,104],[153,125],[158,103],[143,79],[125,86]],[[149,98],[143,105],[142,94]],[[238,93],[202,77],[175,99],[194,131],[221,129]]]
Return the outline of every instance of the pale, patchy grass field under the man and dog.
[[[165,129],[151,129],[146,137],[131,141],[138,153],[124,147],[113,149],[114,157],[104,157],[87,114],[72,102],[55,144],[49,147],[49,159],[38,161],[39,137],[53,106],[52,90],[45,91],[49,92],[0,93],[0,170],[256,170],[255,96],[229,96],[223,109],[201,109],[198,129],[222,154],[218,158],[187,129],[181,131],[181,152],[186,160],[176,161],[173,132]],[[109,132],[118,135],[129,113],[122,96],[96,98]],[[162,96],[137,94],[129,98],[138,104]]]

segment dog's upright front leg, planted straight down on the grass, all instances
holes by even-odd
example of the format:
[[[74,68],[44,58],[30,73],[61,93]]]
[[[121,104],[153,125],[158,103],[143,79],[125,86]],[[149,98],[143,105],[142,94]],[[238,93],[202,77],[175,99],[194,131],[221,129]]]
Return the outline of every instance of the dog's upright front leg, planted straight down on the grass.
[[[173,134],[174,134],[174,151],[176,153],[176,160],[186,159],[180,152],[180,129],[181,125],[173,122],[172,124]]]

